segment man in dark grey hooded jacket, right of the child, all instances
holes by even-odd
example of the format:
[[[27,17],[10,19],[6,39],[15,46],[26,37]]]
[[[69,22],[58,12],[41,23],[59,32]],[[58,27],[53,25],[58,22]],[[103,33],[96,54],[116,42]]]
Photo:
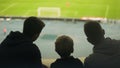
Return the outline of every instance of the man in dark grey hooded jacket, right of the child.
[[[120,68],[119,64],[114,64],[120,59],[118,57],[120,41],[105,38],[105,31],[97,21],[87,22],[84,25],[84,32],[88,42],[94,45],[93,53],[84,61],[85,68]],[[111,60],[111,58],[115,59]]]

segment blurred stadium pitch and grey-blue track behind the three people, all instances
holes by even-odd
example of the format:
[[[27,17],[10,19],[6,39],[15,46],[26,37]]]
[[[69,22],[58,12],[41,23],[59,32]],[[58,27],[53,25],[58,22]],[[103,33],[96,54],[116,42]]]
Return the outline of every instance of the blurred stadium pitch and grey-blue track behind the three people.
[[[120,39],[119,6],[120,0],[0,0],[0,42],[10,31],[22,32],[26,17],[37,16],[46,24],[35,41],[43,59],[59,58],[54,42],[60,35],[73,38],[75,57],[86,57],[93,46],[86,40],[84,23],[100,21],[106,37]]]

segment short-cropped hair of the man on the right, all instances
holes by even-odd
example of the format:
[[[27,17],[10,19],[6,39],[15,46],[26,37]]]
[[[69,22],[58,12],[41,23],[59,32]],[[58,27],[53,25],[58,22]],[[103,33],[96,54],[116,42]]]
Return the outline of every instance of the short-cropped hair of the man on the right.
[[[102,27],[97,21],[88,21],[84,25],[84,32],[88,38],[100,39],[103,37]]]

